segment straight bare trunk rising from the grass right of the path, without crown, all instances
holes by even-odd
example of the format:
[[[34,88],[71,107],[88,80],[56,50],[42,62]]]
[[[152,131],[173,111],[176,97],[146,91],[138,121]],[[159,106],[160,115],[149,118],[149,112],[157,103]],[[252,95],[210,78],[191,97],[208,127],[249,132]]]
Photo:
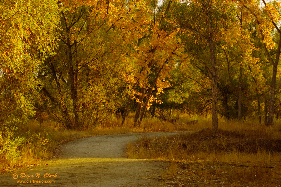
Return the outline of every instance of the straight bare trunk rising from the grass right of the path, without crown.
[[[212,128],[214,131],[218,130],[218,75],[217,75],[217,62],[215,55],[215,44],[214,44],[214,36],[212,30],[210,29],[210,39],[209,39],[209,47],[210,47],[210,57],[212,63]]]

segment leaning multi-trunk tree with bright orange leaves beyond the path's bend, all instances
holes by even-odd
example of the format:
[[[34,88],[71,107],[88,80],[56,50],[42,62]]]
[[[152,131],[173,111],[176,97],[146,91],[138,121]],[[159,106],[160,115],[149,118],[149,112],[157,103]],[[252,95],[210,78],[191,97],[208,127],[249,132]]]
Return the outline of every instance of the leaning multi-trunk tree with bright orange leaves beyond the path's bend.
[[[131,91],[128,93],[122,124],[125,121],[130,100],[135,98],[138,104],[134,126],[140,125],[146,109],[150,108],[153,100],[157,100],[157,97],[152,95],[153,90],[157,87],[157,92],[160,93],[163,88],[169,86],[165,79],[174,69],[176,54],[180,50],[175,32],[165,28],[167,27],[165,17],[170,11],[171,1],[164,2],[160,6],[156,4],[157,1],[150,2],[150,8],[147,9],[150,17],[147,19],[146,31],[140,32],[142,37],[132,42],[135,50],[131,51],[129,59],[135,65],[128,73],[131,78],[126,79]],[[140,91],[136,88],[140,88]]]

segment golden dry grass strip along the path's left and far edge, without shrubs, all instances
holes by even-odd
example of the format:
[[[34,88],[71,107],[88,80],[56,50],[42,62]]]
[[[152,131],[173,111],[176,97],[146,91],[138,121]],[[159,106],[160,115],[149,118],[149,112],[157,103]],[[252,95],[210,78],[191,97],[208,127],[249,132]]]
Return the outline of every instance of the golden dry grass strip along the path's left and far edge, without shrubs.
[[[42,158],[50,158],[55,151],[55,147],[70,140],[82,137],[90,137],[105,134],[121,134],[121,133],[136,133],[136,132],[170,132],[189,130],[183,122],[170,123],[159,119],[145,118],[140,127],[133,127],[133,117],[127,117],[125,124],[121,126],[121,117],[112,116],[100,125],[86,130],[68,130],[60,123],[54,121],[29,120],[19,126],[18,136],[25,137],[27,140],[35,138],[24,146],[20,147],[21,158],[13,162],[8,161],[0,156],[0,172],[13,170],[19,167],[28,167],[36,165]],[[182,120],[184,121],[184,120]],[[39,136],[40,134],[40,136]],[[47,151],[38,147],[40,142],[47,139],[48,143],[43,146]]]

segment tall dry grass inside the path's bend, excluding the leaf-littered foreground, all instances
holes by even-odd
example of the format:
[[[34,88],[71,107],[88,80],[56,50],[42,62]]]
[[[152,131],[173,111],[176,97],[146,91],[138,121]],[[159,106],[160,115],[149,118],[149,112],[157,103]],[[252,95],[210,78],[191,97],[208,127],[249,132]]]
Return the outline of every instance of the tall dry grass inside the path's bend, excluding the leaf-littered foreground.
[[[204,128],[209,127],[205,122],[191,126],[196,129],[192,134],[150,139],[144,137],[135,146],[131,145],[132,150],[128,155],[134,158],[188,161],[281,161],[281,123],[265,127],[253,122],[225,122],[220,119],[217,132]],[[187,129],[191,130],[191,127]]]

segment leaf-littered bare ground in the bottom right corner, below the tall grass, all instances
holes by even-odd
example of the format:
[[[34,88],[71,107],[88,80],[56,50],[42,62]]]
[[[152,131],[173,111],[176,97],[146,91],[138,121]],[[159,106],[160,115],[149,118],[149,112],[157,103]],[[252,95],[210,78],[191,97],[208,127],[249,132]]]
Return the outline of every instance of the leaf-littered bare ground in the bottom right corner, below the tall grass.
[[[176,161],[174,165],[174,174],[163,178],[165,186],[281,186],[279,161]]]

